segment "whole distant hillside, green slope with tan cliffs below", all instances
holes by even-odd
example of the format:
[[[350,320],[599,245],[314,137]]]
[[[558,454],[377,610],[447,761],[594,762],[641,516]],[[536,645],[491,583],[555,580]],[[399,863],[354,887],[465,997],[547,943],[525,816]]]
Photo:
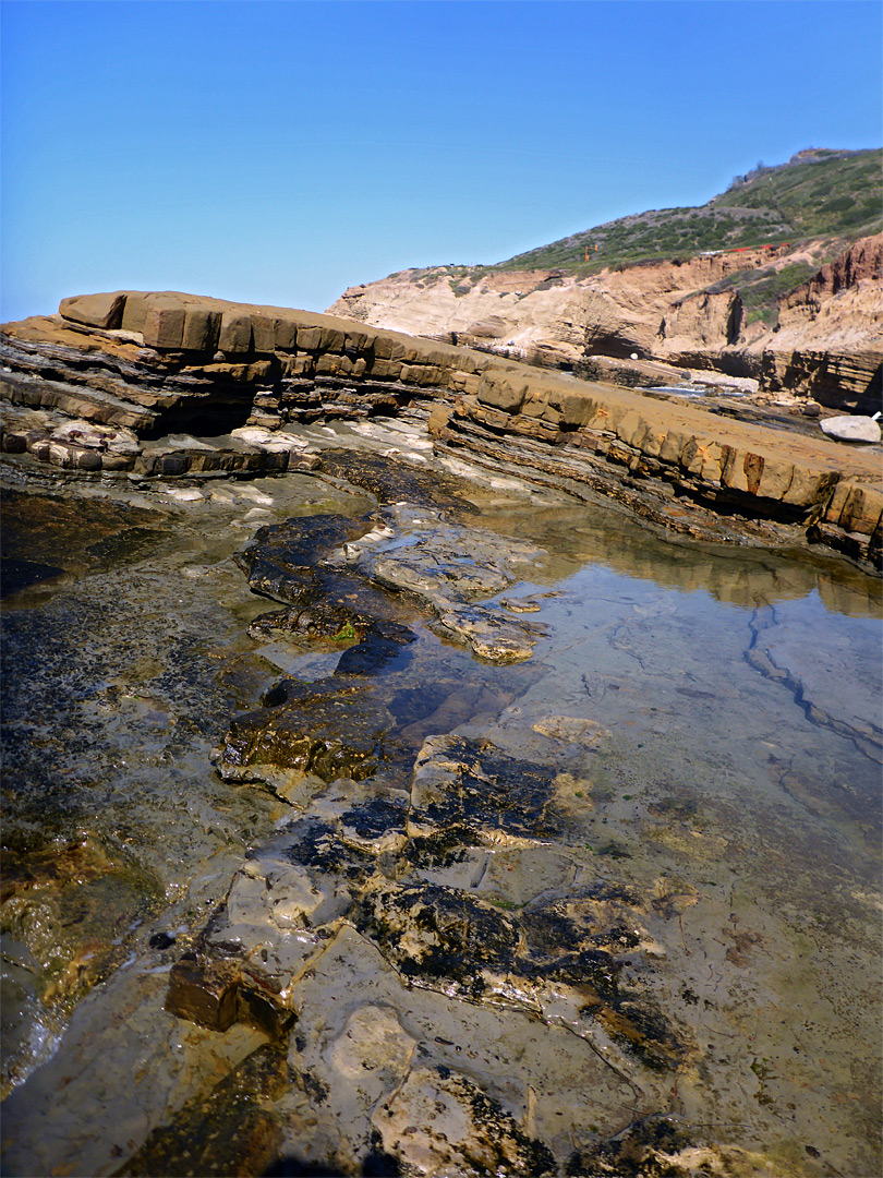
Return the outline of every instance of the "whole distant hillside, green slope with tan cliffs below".
[[[882,231],[883,150],[809,148],[705,205],[622,217],[492,266],[403,270],[328,310],[546,368],[610,362],[630,384],[659,383],[639,371],[652,362],[874,411]]]

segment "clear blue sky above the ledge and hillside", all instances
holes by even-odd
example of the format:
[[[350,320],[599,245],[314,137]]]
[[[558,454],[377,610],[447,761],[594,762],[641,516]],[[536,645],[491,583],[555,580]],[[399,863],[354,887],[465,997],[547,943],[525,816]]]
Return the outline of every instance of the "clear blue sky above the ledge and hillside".
[[[321,311],[879,146],[882,13],[2,0],[0,317],[120,287]]]

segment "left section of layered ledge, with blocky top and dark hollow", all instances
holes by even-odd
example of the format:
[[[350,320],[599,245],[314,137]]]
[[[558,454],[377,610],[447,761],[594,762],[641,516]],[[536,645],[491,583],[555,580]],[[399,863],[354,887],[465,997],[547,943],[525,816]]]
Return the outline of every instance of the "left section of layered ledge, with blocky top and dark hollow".
[[[457,349],[328,316],[132,292],[65,299],[59,316],[6,325],[0,362],[0,393],[12,405],[130,430],[139,439],[394,413],[439,386],[465,388],[482,366]],[[40,423],[13,424],[7,452],[34,452],[38,439],[28,435],[51,432]],[[142,469],[137,456],[112,465],[100,454],[100,468],[92,459],[84,466],[79,449],[69,461],[61,451],[44,461],[147,475],[214,469],[192,455],[184,470]],[[285,469],[279,458],[266,466]]]

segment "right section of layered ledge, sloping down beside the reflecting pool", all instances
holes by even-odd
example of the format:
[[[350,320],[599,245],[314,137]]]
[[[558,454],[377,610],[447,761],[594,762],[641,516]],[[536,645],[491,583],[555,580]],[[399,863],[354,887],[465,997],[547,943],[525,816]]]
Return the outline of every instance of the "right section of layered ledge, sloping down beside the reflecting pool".
[[[611,386],[498,378],[436,411],[439,448],[709,541],[788,543],[797,528],[879,564],[879,454],[730,422]],[[587,495],[586,497],[590,497]],[[784,529],[781,527],[784,525]]]

